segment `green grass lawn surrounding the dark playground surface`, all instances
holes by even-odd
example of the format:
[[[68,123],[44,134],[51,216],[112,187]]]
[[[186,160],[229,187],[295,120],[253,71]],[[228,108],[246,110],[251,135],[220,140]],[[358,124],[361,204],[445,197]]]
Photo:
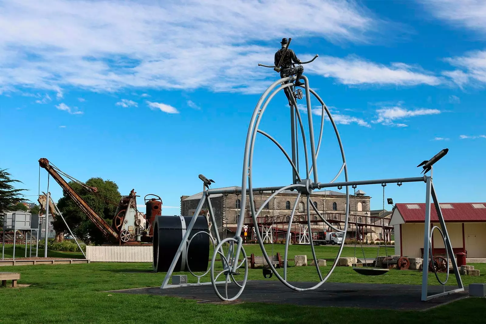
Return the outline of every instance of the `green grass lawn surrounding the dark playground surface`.
[[[245,246],[249,255],[258,246]],[[274,249],[277,249],[277,245]],[[309,247],[291,246],[290,255],[304,254]],[[323,257],[335,247],[316,247]],[[349,253],[349,251],[347,251]],[[352,255],[352,249],[350,250]],[[376,251],[375,251],[376,253]],[[261,252],[260,252],[261,254]],[[71,256],[69,256],[71,257]],[[464,284],[486,282],[486,264],[474,264],[480,277],[463,276]],[[370,319],[400,319],[414,323],[471,321],[483,323],[483,298],[468,298],[426,312],[401,312],[337,307],[302,307],[242,303],[236,305],[196,304],[191,300],[150,295],[104,292],[159,286],[165,273],[151,272],[150,263],[98,263],[2,267],[1,272],[19,272],[19,284],[30,287],[0,288],[0,324],[6,323],[357,323]],[[321,267],[327,273],[330,267]],[[281,269],[279,270],[281,272]],[[188,274],[188,273],[186,273]],[[392,270],[381,276],[363,276],[338,267],[334,282],[419,284],[418,271]],[[318,281],[314,267],[291,267],[288,279]],[[249,270],[249,279],[262,280],[261,270]],[[191,282],[195,280],[188,276]],[[451,281],[454,278],[451,277]],[[276,280],[275,276],[270,280]],[[434,275],[430,276],[431,284]],[[451,282],[452,284],[452,282]],[[290,290],[289,290],[290,291]],[[244,292],[243,292],[244,293]],[[111,295],[111,296],[109,296]],[[373,320],[374,322],[376,320]]]

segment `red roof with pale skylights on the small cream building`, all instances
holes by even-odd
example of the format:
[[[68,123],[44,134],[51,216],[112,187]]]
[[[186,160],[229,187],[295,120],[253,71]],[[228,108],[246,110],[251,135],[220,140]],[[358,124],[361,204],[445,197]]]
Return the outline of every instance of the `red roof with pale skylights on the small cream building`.
[[[486,222],[486,203],[440,203],[446,222]],[[431,204],[431,221],[438,222],[434,204]],[[425,204],[396,204],[390,225],[425,221]]]

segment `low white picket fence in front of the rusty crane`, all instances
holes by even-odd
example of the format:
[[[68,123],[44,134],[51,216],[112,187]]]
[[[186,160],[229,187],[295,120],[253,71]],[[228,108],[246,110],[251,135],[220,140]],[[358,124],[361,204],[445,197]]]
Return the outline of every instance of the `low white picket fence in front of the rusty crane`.
[[[154,249],[148,246],[86,246],[90,262],[154,262]]]

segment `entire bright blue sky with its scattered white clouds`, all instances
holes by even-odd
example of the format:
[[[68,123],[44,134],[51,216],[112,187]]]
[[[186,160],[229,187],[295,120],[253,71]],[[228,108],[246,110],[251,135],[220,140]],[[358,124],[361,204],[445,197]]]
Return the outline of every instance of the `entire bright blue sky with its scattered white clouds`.
[[[179,214],[199,173],[241,185],[248,122],[278,78],[257,64],[292,37],[302,60],[319,54],[304,74],[338,122],[350,179],[417,176],[448,147],[434,171],[439,199],[486,201],[484,1],[222,2],[0,1],[0,168],[36,195],[46,157],[82,181],[156,193],[164,214]],[[278,95],[262,129],[290,151],[287,107]],[[325,125],[321,182],[340,167]],[[268,140],[255,154],[256,186],[288,184]],[[40,180],[46,191],[43,170]],[[381,186],[361,189],[381,207]],[[423,184],[386,190],[424,200]]]

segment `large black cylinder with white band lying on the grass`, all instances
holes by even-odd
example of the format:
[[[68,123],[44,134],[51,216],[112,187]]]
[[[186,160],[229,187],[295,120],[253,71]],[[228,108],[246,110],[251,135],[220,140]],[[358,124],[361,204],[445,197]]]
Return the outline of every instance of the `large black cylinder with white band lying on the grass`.
[[[154,272],[166,272],[174,259],[186,228],[191,222],[191,216],[156,216],[154,222]],[[191,230],[191,239],[200,231],[208,232],[208,221],[204,216],[198,216]],[[209,236],[200,233],[187,244],[177,260],[174,272],[189,271],[206,272],[209,259]]]

